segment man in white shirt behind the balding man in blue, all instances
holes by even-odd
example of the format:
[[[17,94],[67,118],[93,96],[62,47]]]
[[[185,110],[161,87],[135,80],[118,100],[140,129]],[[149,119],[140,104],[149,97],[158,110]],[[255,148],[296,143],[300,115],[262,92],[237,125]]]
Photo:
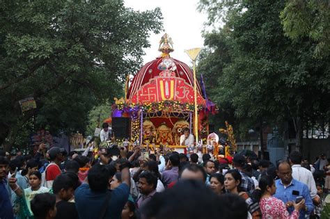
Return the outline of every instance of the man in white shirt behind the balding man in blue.
[[[301,167],[302,156],[300,152],[291,152],[289,155],[289,161],[292,168],[293,179],[301,181],[307,185],[313,203],[317,204],[320,202],[320,197],[317,196],[316,184],[312,172],[306,168]]]

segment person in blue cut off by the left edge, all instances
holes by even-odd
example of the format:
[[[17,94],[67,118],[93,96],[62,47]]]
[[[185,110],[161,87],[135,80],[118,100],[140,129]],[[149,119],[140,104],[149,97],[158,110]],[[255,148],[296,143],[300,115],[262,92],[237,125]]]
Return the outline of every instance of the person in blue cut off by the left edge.
[[[0,156],[0,218],[13,219],[13,206],[11,205],[7,189],[8,160]]]

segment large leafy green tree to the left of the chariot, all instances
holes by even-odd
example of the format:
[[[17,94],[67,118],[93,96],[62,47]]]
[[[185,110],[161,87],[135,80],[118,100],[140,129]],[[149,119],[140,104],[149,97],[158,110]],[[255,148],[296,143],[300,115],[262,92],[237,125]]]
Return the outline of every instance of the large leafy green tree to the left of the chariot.
[[[88,111],[112,100],[142,63],[159,8],[123,1],[5,1],[0,6],[0,143],[15,143],[31,120],[52,131],[84,129]],[[18,101],[36,100],[21,113]],[[84,130],[82,130],[84,131]]]

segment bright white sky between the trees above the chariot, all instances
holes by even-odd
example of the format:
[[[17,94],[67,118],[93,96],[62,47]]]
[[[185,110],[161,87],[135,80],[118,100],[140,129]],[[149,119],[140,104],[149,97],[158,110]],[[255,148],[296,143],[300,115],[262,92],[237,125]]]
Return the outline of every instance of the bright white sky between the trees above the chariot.
[[[191,63],[185,49],[203,47],[204,40],[201,31],[207,16],[198,13],[196,10],[198,0],[125,0],[125,6],[134,10],[152,10],[161,8],[163,15],[164,32],[152,33],[148,39],[151,47],[145,49],[146,56],[143,56],[143,64],[154,60],[160,55],[158,51],[159,40],[164,33],[167,33],[173,41],[174,51],[171,57],[181,60],[184,63]]]

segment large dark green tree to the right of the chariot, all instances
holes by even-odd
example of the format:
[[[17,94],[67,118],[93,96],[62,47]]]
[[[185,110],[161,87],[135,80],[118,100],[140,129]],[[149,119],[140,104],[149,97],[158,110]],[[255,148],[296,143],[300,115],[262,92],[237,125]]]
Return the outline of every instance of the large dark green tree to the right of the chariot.
[[[329,113],[329,60],[315,59],[317,44],[312,40],[292,41],[285,36],[279,17],[285,1],[237,2],[200,3],[210,24],[212,20],[225,22],[222,29],[212,33],[223,35],[228,48],[223,56],[230,57],[215,74],[218,105],[228,103],[234,109],[239,127],[264,122],[281,125],[293,120],[297,146],[301,147],[302,124],[307,117]],[[223,43],[212,47],[222,48]],[[219,54],[210,52],[205,57],[200,64],[212,69],[214,65],[208,60]]]

